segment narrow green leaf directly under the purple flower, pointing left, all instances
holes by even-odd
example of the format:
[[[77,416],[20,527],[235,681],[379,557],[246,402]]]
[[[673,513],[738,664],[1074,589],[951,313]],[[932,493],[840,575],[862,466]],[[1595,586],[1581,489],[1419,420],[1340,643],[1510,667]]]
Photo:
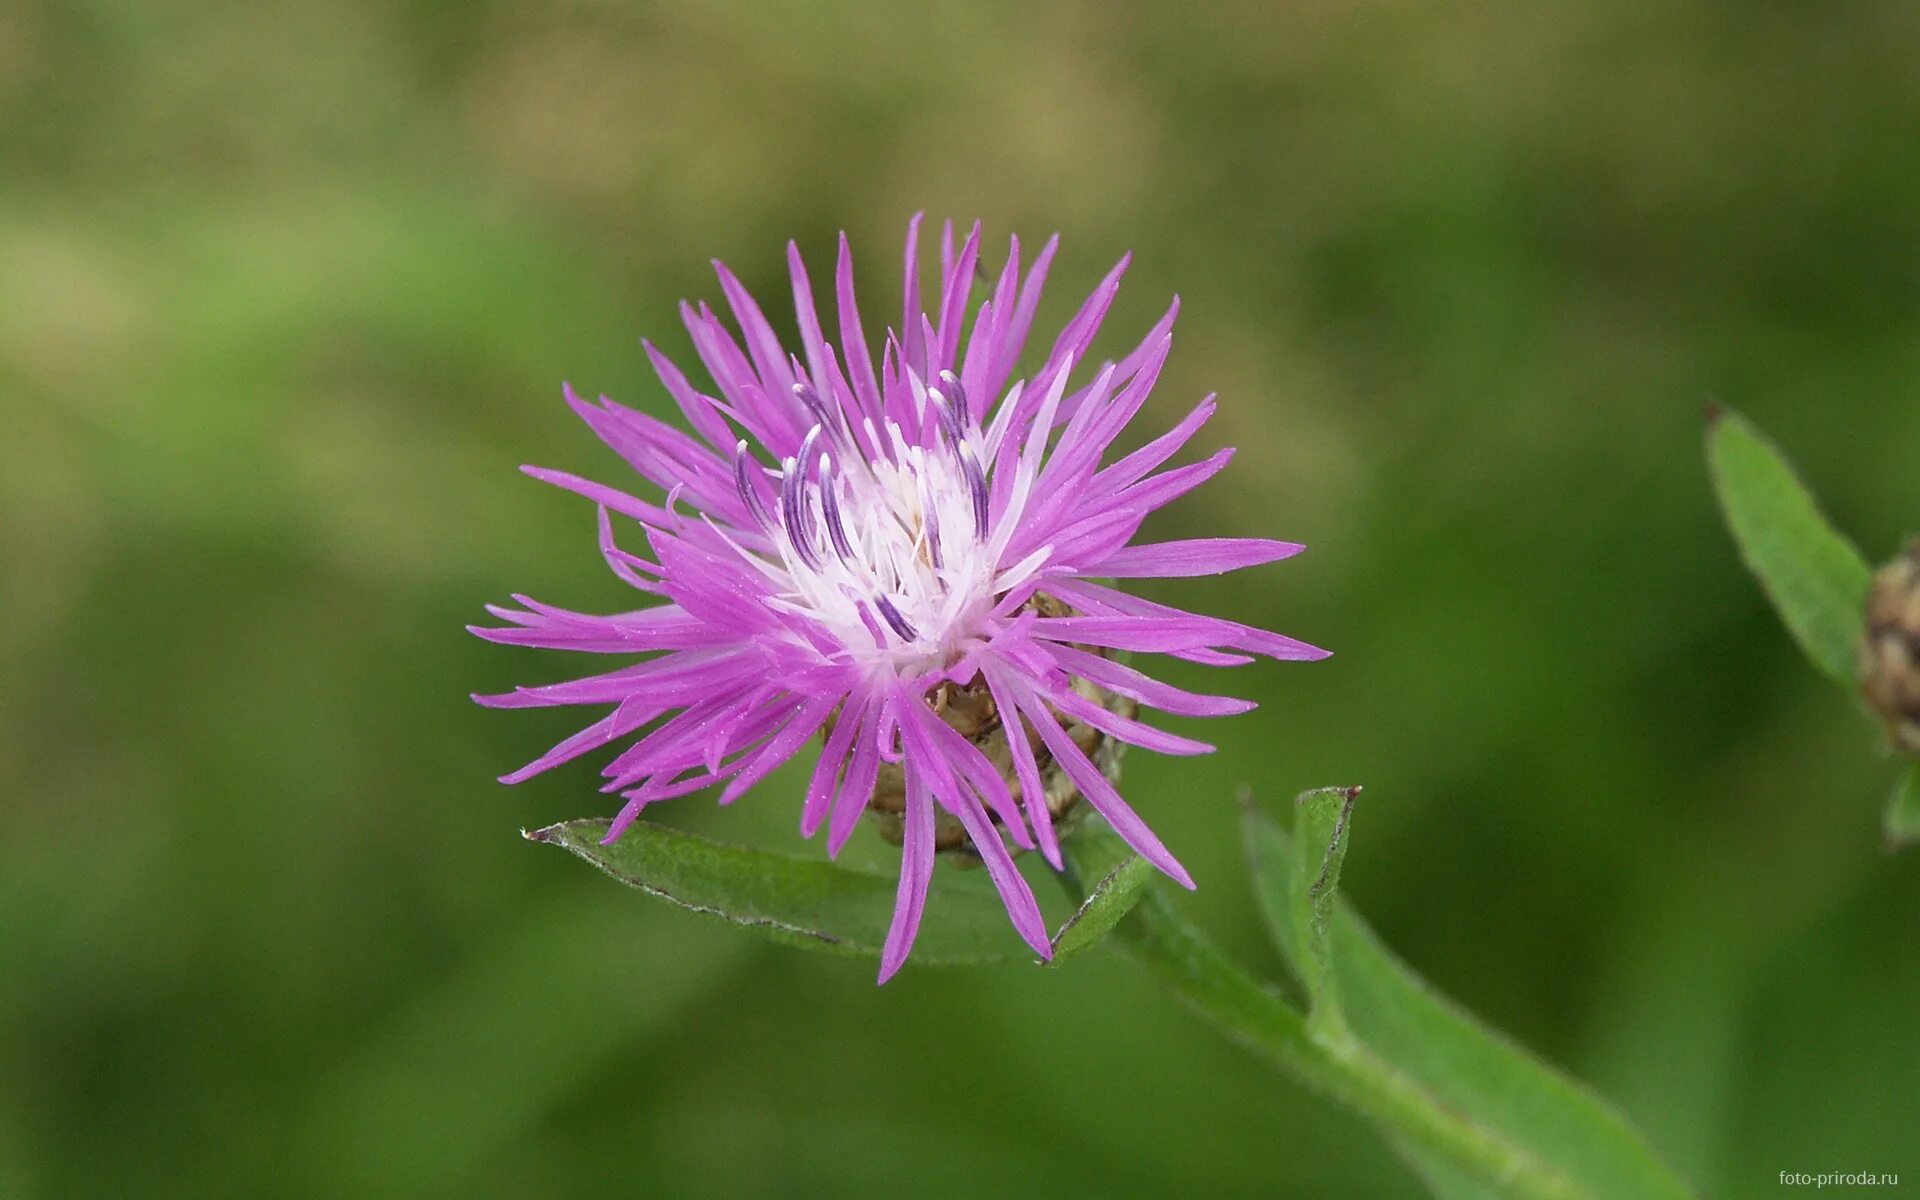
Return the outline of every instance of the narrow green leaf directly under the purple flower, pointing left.
[[[636,822],[611,847],[605,820],[522,833],[580,854],[620,883],[810,950],[877,958],[893,920],[897,879],[812,858],[726,845]],[[922,966],[1033,960],[989,891],[943,881],[927,897],[914,939]]]

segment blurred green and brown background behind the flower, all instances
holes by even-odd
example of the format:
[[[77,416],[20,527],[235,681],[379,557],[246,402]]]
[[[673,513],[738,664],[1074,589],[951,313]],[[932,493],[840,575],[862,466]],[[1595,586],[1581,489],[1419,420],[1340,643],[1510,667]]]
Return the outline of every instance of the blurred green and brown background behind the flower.
[[[467,701],[580,666],[484,601],[626,605],[515,470],[620,478],[561,380],[662,411],[637,336],[789,236],[891,311],[922,207],[1062,230],[1043,324],[1135,250],[1146,424],[1240,447],[1150,534],[1311,545],[1152,589],[1336,651],[1131,758],[1198,922],[1275,970],[1233,791],[1365,783],[1386,939],[1707,1194],[1920,1177],[1920,854],[1699,455],[1920,526],[1916,61],[1907,0],[0,6],[0,1196],[1417,1194],[1119,958],[876,989],[516,837],[607,812],[493,783],[588,714]],[[791,772],[660,812],[797,845]]]

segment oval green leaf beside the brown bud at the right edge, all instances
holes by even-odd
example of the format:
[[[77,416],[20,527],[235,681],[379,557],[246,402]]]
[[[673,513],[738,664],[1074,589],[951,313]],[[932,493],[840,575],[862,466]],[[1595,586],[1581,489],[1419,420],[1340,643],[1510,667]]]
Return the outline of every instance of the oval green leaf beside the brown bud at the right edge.
[[[1820,513],[1793,467],[1743,417],[1715,411],[1707,465],[1740,557],[1814,666],[1849,689],[1872,568]]]

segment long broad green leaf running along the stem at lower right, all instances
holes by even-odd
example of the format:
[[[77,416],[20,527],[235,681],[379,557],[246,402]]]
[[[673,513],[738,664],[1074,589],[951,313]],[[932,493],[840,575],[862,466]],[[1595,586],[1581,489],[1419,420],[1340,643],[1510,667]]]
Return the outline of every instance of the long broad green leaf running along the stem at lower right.
[[[1340,793],[1317,793],[1338,797]],[[1300,975],[1313,977],[1313,920],[1302,920],[1302,862],[1327,862],[1331,799],[1304,799],[1292,835],[1265,810],[1246,808],[1246,847],[1254,893],[1281,952]],[[1336,839],[1336,841],[1344,841]],[[1296,845],[1311,843],[1311,845]],[[1546,1164],[1563,1187],[1536,1188],[1578,1196],[1680,1198],[1686,1188],[1640,1133],[1603,1100],[1528,1056],[1500,1033],[1436,993],[1400,962],[1342,899],[1332,900],[1323,952],[1338,985],[1346,1054],[1377,1056],[1394,1077],[1430,1096],[1524,1160]],[[1323,1035],[1325,1037],[1325,1035]],[[1390,1137],[1394,1129],[1386,1131]],[[1461,1164],[1430,1146],[1394,1137],[1407,1162],[1448,1200],[1519,1194],[1500,1179],[1463,1173]]]

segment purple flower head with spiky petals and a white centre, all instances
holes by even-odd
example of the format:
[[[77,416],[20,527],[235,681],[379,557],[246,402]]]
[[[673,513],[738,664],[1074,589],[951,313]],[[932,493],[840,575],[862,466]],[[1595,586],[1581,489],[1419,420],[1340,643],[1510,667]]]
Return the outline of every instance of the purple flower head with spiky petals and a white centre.
[[[1156,682],[1114,660],[1114,651],[1215,666],[1250,655],[1325,655],[1100,582],[1219,574],[1300,551],[1261,538],[1133,543],[1148,513],[1212,478],[1233,453],[1162,468],[1213,413],[1210,396],[1167,434],[1102,465],[1160,376],[1179,301],[1117,363],[1085,367],[1127,267],[1121,259],[1039,369],[1014,380],[1058,238],[1025,273],[1012,240],[970,324],[979,227],[958,253],[947,227],[931,309],[922,303],[918,228],[916,217],[900,324],[885,332],[877,361],[843,234],[837,348],[791,244],[799,355],[720,263],[741,340],[705,303],[680,307],[718,396],[645,344],[693,434],[568,390],[572,409],[664,499],[559,470],[526,472],[595,501],[607,564],[664,603],[591,616],[515,597],[520,609],[490,607],[507,628],[474,628],[513,645],[653,655],[586,680],[476,697],[501,708],[612,707],[503,776],[515,783],[637,735],[605,768],[603,791],[626,799],[607,841],[655,801],[726,783],[720,803],[732,803],[820,733],[801,833],[828,826],[837,854],[891,764],[904,780],[904,837],[881,981],[912,948],[943,812],[964,828],[1014,927],[1048,956],[1041,910],[1006,845],[1037,847],[1060,868],[1043,772],[1069,781],[1135,851],[1192,887],[1073,733],[1092,730],[1171,755],[1213,747],[1133,720],[1087,691],[1188,716],[1254,705]],[[616,516],[637,522],[645,555],[616,543]],[[954,695],[993,716],[1010,770],[941,716]]]

